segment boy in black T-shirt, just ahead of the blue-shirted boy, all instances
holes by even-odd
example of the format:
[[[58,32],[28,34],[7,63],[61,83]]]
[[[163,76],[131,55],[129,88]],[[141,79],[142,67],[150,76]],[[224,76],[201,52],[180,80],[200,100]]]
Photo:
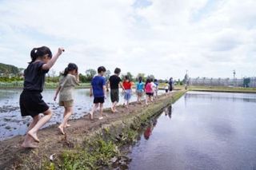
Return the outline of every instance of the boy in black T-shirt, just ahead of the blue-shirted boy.
[[[124,90],[124,87],[122,85],[122,80],[119,77],[120,73],[121,73],[121,69],[119,68],[114,69],[114,75],[110,76],[110,79],[108,82],[108,84],[110,84],[110,98],[112,102],[112,106],[111,106],[112,113],[117,112],[115,107],[116,105],[118,105],[118,102],[119,102],[119,85]]]

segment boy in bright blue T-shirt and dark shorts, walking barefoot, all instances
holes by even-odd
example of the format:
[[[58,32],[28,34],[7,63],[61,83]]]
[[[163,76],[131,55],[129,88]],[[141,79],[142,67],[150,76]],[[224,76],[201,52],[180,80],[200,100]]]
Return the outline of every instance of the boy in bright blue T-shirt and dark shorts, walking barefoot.
[[[106,98],[106,79],[103,77],[105,73],[105,67],[98,67],[98,75],[91,81],[90,97],[94,96],[94,106],[90,111],[90,120],[94,119],[94,112],[98,109],[98,105],[100,110],[100,117],[98,119],[103,119],[103,104]]]

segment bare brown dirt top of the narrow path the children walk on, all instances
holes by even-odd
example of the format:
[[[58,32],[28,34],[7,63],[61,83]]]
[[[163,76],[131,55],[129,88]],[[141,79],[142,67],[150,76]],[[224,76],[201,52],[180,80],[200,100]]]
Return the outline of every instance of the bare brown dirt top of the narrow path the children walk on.
[[[166,105],[178,100],[184,93],[186,91],[180,90],[173,92],[168,97],[162,95],[148,106],[135,102],[130,104],[130,109],[118,106],[118,113],[111,113],[110,109],[104,109],[104,119],[102,120],[98,120],[98,113],[95,113],[94,121],[90,121],[89,116],[71,120],[69,121],[71,126],[66,128],[66,136],[58,131],[58,125],[43,128],[38,132],[41,142],[39,148],[36,149],[21,147],[24,136],[3,140],[0,142],[0,169],[16,169],[24,167],[23,165],[32,168],[35,164],[42,167],[42,163],[49,160],[50,155],[82,144],[86,136],[90,136],[103,126],[114,124],[117,121],[125,121],[131,117],[140,117],[141,113],[159,112]]]

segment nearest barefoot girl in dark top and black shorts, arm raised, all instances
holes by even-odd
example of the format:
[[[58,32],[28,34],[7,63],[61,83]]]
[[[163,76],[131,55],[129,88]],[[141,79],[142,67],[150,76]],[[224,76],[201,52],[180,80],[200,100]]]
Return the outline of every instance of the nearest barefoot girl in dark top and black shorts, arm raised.
[[[50,121],[52,111],[46,102],[42,100],[42,90],[45,84],[46,73],[57,61],[64,49],[59,48],[58,52],[52,57],[50,49],[46,46],[34,48],[30,52],[31,60],[24,71],[24,88],[20,95],[19,105],[22,117],[33,117],[33,121],[26,132],[25,140],[22,143],[24,148],[37,148],[34,144],[39,142],[38,130]],[[43,113],[44,117],[40,117]]]

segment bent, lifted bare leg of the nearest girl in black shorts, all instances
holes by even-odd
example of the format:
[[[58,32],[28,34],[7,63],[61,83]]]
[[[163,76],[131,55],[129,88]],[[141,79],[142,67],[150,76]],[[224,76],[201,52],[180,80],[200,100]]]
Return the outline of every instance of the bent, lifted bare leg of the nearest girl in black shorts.
[[[45,125],[48,121],[50,121],[50,118],[52,116],[52,112],[50,109],[48,109],[45,113],[43,113],[45,116],[42,117],[36,125],[34,125],[34,128],[30,129],[29,132],[27,132],[31,137],[33,137],[34,140],[38,141],[38,130],[39,128],[42,128],[43,125]]]

